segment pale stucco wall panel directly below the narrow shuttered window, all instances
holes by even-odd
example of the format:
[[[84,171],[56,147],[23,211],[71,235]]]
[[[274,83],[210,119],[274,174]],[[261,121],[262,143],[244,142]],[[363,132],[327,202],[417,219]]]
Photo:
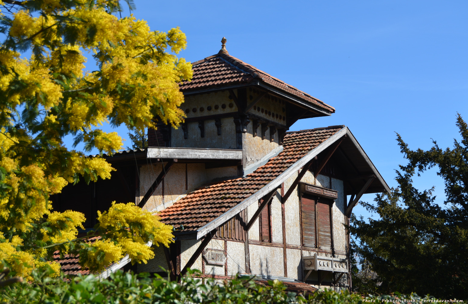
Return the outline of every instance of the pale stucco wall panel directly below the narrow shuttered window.
[[[252,275],[284,276],[283,248],[249,244]]]

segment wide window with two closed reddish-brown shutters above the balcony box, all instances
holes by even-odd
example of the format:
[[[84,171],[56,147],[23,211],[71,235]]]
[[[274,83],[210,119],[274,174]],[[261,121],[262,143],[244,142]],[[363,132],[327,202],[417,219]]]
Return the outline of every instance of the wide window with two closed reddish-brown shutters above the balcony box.
[[[331,204],[323,197],[302,195],[300,200],[302,246],[331,249]]]

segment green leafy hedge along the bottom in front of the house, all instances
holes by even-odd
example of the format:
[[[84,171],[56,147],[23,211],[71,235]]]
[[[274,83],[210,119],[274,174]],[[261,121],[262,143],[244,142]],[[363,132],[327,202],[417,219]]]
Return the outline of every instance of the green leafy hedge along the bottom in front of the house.
[[[197,270],[190,271],[180,283],[148,274],[134,275],[118,271],[109,279],[100,281],[94,275],[50,278],[34,274],[36,282],[19,282],[0,290],[0,301],[21,304],[260,304],[260,303],[312,303],[312,304],[366,304],[366,303],[431,303],[430,297],[415,294],[404,296],[361,297],[348,290],[336,292],[321,290],[306,298],[293,292],[279,281],[261,286],[252,277],[237,276],[226,282],[196,278]],[[433,302],[432,302],[433,303]]]

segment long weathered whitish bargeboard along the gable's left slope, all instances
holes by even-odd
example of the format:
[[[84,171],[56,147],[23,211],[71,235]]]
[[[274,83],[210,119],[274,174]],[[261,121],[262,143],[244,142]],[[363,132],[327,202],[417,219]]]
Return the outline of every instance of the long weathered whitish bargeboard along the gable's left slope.
[[[215,218],[208,224],[205,224],[205,226],[200,227],[197,229],[197,239],[203,238],[208,232],[212,231],[213,229],[219,227],[221,224],[226,222],[228,219],[234,217],[236,214],[244,210],[245,208],[249,207],[251,204],[257,202],[259,199],[261,199],[263,196],[267,195],[270,193],[272,190],[276,189],[286,181],[292,174],[294,174],[299,168],[303,167],[306,165],[309,160],[313,159],[315,156],[317,156],[320,152],[328,148],[330,145],[332,145],[338,138],[341,138],[346,134],[346,131],[348,130],[348,127],[344,127],[343,129],[339,130],[332,136],[330,136],[328,139],[326,139],[322,144],[318,145],[312,151],[308,152],[304,157],[296,161],[292,166],[287,168],[285,172],[282,174],[279,174],[277,178],[275,178],[273,181],[270,181],[266,186],[258,190],[256,193],[253,195],[250,195],[248,198],[243,200],[241,203],[235,205],[231,209],[227,210],[224,214],[220,215],[219,217]]]

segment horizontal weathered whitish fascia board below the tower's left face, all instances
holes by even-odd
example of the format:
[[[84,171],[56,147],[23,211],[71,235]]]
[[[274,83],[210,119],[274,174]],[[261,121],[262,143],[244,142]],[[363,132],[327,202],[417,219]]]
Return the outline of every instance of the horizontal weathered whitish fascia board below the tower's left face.
[[[242,150],[201,148],[148,148],[148,158],[173,159],[242,159]]]

